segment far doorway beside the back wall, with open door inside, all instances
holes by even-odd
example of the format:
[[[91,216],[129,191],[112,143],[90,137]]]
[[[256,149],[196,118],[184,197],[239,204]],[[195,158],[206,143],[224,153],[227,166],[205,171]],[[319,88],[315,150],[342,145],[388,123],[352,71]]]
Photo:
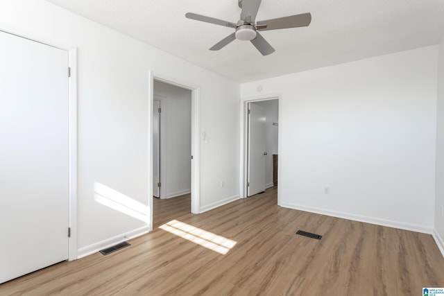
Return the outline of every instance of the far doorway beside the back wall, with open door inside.
[[[241,193],[249,197],[278,184],[279,97],[244,101],[242,107]]]

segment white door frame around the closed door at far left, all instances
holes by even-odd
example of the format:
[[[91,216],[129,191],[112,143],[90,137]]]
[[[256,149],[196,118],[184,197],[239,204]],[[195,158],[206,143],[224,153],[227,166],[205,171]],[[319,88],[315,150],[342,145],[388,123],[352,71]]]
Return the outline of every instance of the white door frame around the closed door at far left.
[[[1,25],[0,31],[3,33],[15,35],[33,42],[38,42],[47,46],[52,46],[68,53],[67,67],[70,69],[70,76],[68,79],[68,116],[69,116],[69,209],[68,209],[68,223],[70,228],[68,238],[68,260],[77,259],[77,48],[67,44],[61,44],[46,37],[42,37],[35,33],[29,33],[22,29],[12,28]],[[67,69],[68,73],[68,69]],[[68,235],[68,229],[67,229]]]

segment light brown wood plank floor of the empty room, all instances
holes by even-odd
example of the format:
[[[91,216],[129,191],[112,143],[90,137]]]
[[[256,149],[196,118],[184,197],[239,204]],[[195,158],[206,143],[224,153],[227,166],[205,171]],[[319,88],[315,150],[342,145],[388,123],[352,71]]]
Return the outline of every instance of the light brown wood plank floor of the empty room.
[[[163,210],[156,225],[168,222]],[[0,295],[389,296],[444,287],[444,258],[432,236],[284,209],[275,187],[200,215],[177,215],[237,243],[223,255],[156,227],[118,252],[9,281]],[[298,229],[323,238],[296,235]]]

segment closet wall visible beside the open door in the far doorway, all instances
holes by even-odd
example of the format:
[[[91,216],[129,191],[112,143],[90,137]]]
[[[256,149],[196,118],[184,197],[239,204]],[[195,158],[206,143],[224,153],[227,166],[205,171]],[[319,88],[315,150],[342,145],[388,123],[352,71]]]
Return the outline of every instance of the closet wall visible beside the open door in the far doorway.
[[[273,154],[278,154],[278,125],[279,122],[279,101],[260,101],[255,104],[261,105],[265,109],[266,117],[266,159],[265,159],[265,188],[273,186]]]

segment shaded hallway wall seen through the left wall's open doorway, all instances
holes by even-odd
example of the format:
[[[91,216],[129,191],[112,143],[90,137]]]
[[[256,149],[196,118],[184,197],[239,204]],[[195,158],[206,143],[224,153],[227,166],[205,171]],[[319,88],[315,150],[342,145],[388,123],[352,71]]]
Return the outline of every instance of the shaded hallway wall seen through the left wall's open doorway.
[[[191,192],[191,91],[154,81],[155,99],[161,101],[162,138],[160,198]]]

